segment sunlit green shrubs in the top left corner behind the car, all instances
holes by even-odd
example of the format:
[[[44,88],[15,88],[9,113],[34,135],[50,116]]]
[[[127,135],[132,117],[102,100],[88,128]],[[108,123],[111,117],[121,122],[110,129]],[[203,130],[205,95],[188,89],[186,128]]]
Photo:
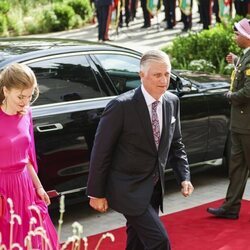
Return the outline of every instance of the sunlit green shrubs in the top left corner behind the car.
[[[92,18],[89,0],[0,0],[0,36],[68,30]]]

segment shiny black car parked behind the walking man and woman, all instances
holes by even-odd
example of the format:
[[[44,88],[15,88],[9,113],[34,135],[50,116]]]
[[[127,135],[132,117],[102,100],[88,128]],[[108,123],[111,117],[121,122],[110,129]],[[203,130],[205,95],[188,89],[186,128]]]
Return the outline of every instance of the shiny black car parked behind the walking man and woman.
[[[140,85],[140,57],[130,49],[76,40],[0,40],[0,69],[25,63],[38,79],[41,94],[32,110],[39,176],[46,190],[71,197],[85,190],[103,109],[116,95]],[[191,167],[221,164],[227,156],[230,108],[223,95],[228,89],[228,79],[218,75],[171,73],[169,90],[181,100]]]

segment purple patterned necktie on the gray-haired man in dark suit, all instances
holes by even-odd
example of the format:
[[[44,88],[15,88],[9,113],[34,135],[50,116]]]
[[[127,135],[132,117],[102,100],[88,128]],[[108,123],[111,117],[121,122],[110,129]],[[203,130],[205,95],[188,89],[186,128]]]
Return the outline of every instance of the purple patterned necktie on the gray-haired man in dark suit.
[[[159,118],[157,115],[157,105],[160,103],[159,101],[155,101],[152,103],[152,118],[151,118],[151,123],[152,123],[152,129],[153,129],[153,135],[154,135],[154,140],[155,140],[155,145],[156,148],[158,149],[159,143],[160,143],[160,138],[161,138],[161,133],[160,133],[160,122]],[[153,173],[153,182],[154,185],[159,180],[159,170],[158,166],[156,166],[154,173]]]

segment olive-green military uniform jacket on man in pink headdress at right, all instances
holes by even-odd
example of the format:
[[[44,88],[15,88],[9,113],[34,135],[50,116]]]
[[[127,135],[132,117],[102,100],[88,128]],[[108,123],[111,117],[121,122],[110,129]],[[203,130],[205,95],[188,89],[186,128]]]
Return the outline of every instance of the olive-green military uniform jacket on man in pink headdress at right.
[[[231,130],[250,134],[250,50],[239,60],[231,95]]]

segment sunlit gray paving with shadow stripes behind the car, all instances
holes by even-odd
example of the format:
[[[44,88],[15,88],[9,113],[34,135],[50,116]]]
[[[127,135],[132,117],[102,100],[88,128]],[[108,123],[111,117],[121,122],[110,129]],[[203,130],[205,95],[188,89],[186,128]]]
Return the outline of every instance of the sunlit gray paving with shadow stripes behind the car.
[[[180,10],[176,10],[176,20],[180,20]],[[118,32],[114,27],[110,29],[111,44],[136,49],[141,52],[150,48],[161,48],[173,40],[176,36],[187,35],[182,33],[183,23],[177,22],[176,26],[172,30],[164,30],[166,22],[163,21],[163,12],[158,13],[151,20],[152,26],[148,29],[141,29],[143,25],[143,17],[141,8],[138,8],[137,17],[133,22],[129,23],[129,27],[119,28]],[[199,15],[197,13],[197,6],[193,8],[193,28],[192,31],[199,31],[202,25],[198,23]],[[71,38],[81,39],[88,41],[97,41],[97,24],[88,25],[81,29],[56,32],[50,34],[33,35],[33,37],[57,37],[57,38]]]

